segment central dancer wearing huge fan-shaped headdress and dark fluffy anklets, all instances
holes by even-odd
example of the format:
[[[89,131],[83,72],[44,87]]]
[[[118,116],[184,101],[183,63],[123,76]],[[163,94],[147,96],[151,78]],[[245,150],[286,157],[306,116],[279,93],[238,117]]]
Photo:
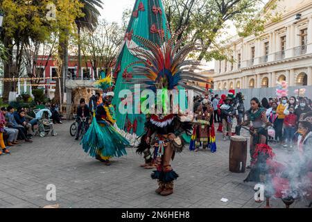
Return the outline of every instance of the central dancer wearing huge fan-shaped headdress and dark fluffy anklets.
[[[140,83],[141,88],[151,89],[157,95],[157,114],[150,112],[148,132],[142,138],[154,148],[153,156],[157,170],[151,177],[158,180],[159,188],[156,192],[162,196],[173,194],[173,180],[177,179],[178,175],[171,167],[171,159],[175,152],[182,151],[182,133],[187,132],[191,135],[193,119],[187,112],[182,112],[182,108],[175,103],[176,97],[171,95],[177,93],[181,87],[187,89],[188,93],[190,90],[205,92],[205,89],[193,83],[205,82],[202,76],[194,72],[200,62],[185,60],[189,53],[196,49],[196,44],[191,42],[181,47],[182,40],[177,40],[181,33],[182,29],[172,35],[171,39],[159,35],[163,40],[162,45],[134,35],[141,46],[133,49],[138,61],[128,66],[132,67],[136,76],[130,83]],[[160,103],[159,98],[162,101]],[[189,95],[189,99],[193,99],[193,96]],[[170,107],[172,103],[173,108]],[[170,104],[169,107],[166,104]],[[177,108],[178,112],[173,112],[174,108]],[[162,110],[162,114],[159,114],[159,110]]]

